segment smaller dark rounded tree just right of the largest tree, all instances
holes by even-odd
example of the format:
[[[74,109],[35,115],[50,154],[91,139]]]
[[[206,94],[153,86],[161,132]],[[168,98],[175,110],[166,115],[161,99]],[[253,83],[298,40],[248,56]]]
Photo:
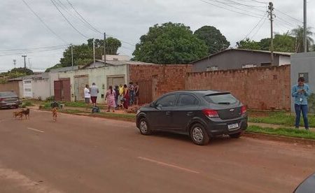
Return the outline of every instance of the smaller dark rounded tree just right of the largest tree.
[[[195,36],[206,43],[209,54],[220,52],[230,46],[230,42],[226,40],[225,36],[216,27],[201,27],[195,31]]]

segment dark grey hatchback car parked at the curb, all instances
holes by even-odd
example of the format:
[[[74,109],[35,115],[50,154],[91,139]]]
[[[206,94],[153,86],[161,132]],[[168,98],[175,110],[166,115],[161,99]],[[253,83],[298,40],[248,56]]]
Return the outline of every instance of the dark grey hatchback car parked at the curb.
[[[197,145],[228,134],[239,138],[247,129],[246,106],[230,92],[191,90],[170,92],[137,112],[141,134],[154,130],[188,134]]]

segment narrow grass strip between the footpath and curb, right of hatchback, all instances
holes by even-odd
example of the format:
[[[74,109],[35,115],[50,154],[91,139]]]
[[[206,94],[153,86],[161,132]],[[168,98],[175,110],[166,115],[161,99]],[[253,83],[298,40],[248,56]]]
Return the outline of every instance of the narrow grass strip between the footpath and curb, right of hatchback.
[[[295,138],[307,138],[315,140],[315,132],[306,131],[306,130],[298,130],[298,129],[272,129],[267,127],[258,127],[258,126],[249,126],[246,129],[247,132],[253,132],[256,134],[269,134],[275,136],[287,136],[287,137],[295,137]]]

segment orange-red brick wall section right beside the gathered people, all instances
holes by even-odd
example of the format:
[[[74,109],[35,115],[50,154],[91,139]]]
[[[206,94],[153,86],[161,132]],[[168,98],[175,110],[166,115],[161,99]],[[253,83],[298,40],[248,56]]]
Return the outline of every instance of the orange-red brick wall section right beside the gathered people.
[[[166,92],[184,90],[185,76],[191,71],[191,67],[189,64],[130,65],[129,78],[134,83],[146,81],[146,83],[152,84],[152,98],[156,99]],[[140,94],[141,92],[144,91],[140,87]]]

